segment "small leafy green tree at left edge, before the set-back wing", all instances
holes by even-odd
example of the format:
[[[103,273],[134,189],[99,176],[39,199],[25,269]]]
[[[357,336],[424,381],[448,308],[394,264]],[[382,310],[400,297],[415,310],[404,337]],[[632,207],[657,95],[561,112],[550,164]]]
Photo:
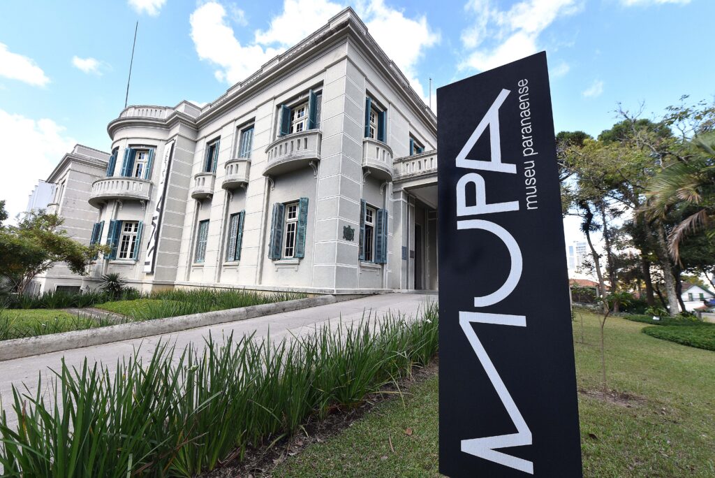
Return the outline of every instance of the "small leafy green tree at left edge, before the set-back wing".
[[[24,293],[32,279],[56,263],[66,263],[69,270],[87,275],[85,268],[107,246],[83,245],[61,228],[63,220],[44,210],[25,213],[16,226],[0,229],[0,273],[9,278],[19,293]]]

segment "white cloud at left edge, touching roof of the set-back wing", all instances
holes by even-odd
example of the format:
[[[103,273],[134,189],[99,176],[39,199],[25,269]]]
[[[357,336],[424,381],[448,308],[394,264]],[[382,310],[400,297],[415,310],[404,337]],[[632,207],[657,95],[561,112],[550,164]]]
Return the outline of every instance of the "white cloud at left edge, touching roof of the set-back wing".
[[[27,206],[38,180],[44,180],[77,141],[51,119],[30,119],[0,109],[0,144],[3,145],[4,182],[0,199],[7,201],[10,218]]]

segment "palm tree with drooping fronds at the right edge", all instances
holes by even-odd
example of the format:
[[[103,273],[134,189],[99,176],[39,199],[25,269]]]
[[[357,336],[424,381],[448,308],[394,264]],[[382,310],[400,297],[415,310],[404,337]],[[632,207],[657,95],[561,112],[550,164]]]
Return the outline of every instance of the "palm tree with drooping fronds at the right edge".
[[[645,212],[651,218],[684,218],[668,238],[675,260],[680,260],[681,242],[688,235],[708,230],[715,220],[715,132],[695,137],[690,146],[691,155],[664,167],[646,190],[649,201]]]

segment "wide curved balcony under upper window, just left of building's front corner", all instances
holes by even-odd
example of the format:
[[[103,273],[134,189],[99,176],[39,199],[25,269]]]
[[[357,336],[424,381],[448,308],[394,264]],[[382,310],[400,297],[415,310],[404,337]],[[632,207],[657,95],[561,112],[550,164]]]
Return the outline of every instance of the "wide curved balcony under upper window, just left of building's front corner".
[[[320,130],[285,135],[266,148],[267,166],[263,175],[282,175],[312,165],[317,172],[320,161]]]

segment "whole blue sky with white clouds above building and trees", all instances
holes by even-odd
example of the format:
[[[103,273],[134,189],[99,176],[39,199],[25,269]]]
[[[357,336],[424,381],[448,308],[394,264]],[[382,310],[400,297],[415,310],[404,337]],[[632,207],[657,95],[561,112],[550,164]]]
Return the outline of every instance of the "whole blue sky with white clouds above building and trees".
[[[618,102],[712,99],[712,0],[361,0],[420,94],[546,49],[556,131],[597,135]],[[210,102],[347,6],[338,0],[0,1],[0,199],[11,215],[76,143],[109,150],[129,104]],[[433,93],[433,102],[434,102]],[[433,103],[434,106],[434,103]],[[18,160],[20,158],[20,160]]]

